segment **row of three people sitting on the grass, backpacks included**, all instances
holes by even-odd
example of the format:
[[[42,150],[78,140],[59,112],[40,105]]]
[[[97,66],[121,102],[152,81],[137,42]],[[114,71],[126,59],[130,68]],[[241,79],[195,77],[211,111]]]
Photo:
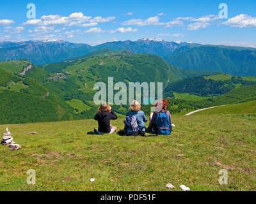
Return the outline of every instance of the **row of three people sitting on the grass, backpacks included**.
[[[172,133],[172,117],[171,113],[167,110],[168,101],[161,99],[157,101],[155,112],[150,113],[150,124],[148,128],[145,127],[147,117],[145,113],[140,110],[141,105],[138,101],[132,101],[129,109],[125,115],[124,131],[120,131],[120,135],[127,136],[145,136],[145,132],[153,133],[156,135],[170,135]],[[103,135],[104,133],[114,133],[117,128],[111,126],[110,120],[116,120],[117,116],[111,106],[103,104],[99,107],[98,113],[94,117],[98,121],[99,129],[94,129],[94,133]]]

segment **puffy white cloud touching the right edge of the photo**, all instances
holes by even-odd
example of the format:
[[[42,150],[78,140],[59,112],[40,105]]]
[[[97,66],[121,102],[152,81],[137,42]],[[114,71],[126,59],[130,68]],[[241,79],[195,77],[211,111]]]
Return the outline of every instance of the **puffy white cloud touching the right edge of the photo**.
[[[256,17],[252,17],[247,14],[240,14],[236,17],[229,18],[225,25],[231,25],[232,27],[256,27]]]

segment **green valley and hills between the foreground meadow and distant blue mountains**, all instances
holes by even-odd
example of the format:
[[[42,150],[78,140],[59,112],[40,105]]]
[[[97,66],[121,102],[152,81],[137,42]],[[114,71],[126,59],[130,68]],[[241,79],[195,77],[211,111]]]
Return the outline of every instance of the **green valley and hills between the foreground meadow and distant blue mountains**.
[[[31,64],[21,75],[29,64],[0,62],[0,124],[92,119],[97,110],[93,86],[97,82],[108,85],[109,76],[114,83],[163,82],[163,96],[173,114],[256,99],[256,77],[180,69],[157,55],[132,54],[130,50],[104,49],[39,67]],[[15,111],[6,112],[13,107]],[[127,108],[113,105],[120,116]],[[146,113],[149,108],[143,106]]]

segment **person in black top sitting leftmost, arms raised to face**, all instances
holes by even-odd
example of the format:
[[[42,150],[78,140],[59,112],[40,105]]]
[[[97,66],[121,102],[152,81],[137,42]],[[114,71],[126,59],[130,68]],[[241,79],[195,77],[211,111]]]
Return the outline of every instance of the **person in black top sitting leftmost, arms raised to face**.
[[[111,110],[111,106],[107,104],[102,104],[98,113],[95,115],[94,119],[98,121],[99,129],[94,129],[95,133],[103,135],[104,133],[114,133],[117,128],[110,125],[110,120],[116,120],[116,113]]]

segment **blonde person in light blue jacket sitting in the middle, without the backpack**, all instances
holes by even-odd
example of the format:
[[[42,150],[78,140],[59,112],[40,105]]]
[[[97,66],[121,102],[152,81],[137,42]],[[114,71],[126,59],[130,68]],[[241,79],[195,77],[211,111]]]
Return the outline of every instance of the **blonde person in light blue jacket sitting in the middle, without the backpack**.
[[[141,109],[140,103],[136,100],[132,101],[129,109],[130,111],[126,114],[126,116],[135,116],[138,122],[140,133],[142,135],[145,134],[145,131],[146,131],[145,122],[147,122],[148,119],[145,113],[142,110],[140,110]]]

